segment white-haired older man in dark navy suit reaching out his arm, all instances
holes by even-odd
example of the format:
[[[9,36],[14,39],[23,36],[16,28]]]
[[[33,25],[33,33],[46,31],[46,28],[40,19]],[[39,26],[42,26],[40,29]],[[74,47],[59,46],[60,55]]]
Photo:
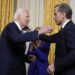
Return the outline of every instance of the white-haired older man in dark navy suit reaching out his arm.
[[[43,27],[39,31],[22,33],[28,27],[29,12],[18,9],[14,14],[14,22],[9,23],[0,38],[0,75],[26,75],[24,62],[29,57],[24,54],[25,42],[38,39],[40,34],[51,28]]]

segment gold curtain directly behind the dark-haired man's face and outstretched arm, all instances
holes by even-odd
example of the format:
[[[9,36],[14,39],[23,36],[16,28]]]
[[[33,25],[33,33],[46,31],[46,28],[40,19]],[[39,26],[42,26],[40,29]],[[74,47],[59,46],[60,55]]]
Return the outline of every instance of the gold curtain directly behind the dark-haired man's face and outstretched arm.
[[[45,0],[45,13],[44,13],[44,24],[53,27],[51,34],[58,32],[58,27],[53,20],[54,6],[59,3],[68,3],[68,0]],[[50,51],[48,55],[49,64],[52,64],[55,59],[55,43],[51,43]]]

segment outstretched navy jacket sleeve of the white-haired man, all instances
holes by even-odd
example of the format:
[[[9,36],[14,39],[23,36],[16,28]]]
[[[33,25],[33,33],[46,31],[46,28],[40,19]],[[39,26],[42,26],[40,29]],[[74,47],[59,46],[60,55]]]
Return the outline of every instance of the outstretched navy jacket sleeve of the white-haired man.
[[[18,33],[15,29],[9,28],[9,30],[7,31],[7,36],[14,43],[21,43],[21,42],[33,41],[38,39],[38,32],[31,31],[22,34]]]

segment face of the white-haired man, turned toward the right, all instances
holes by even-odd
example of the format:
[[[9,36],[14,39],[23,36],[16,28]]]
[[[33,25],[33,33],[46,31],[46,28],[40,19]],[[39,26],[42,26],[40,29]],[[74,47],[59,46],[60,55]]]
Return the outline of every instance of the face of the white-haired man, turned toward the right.
[[[28,26],[28,23],[29,23],[28,11],[23,11],[22,15],[20,16],[20,22],[22,24],[22,28]]]

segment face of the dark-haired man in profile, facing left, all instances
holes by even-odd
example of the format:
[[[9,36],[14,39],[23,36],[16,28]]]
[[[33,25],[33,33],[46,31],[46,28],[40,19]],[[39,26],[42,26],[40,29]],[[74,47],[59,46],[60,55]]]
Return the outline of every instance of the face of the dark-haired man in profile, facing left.
[[[54,20],[55,20],[56,24],[61,25],[63,23],[65,15],[63,12],[60,12],[58,9],[59,8],[56,7],[54,10]]]

